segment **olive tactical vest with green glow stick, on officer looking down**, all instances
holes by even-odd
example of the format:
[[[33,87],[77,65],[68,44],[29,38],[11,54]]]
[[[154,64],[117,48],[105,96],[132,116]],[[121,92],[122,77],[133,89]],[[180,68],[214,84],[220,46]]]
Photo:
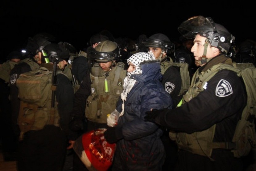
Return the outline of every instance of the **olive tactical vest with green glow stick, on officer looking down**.
[[[123,80],[126,77],[124,63],[118,62],[107,77],[95,77],[92,74],[90,77],[91,95],[86,100],[85,117],[89,121],[107,123],[107,114],[116,109],[116,103],[123,92]]]

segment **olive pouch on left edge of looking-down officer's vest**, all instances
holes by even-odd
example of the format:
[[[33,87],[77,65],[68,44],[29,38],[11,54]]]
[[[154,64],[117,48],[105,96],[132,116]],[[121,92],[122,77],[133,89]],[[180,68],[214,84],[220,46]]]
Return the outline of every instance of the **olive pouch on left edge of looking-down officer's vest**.
[[[98,102],[97,97],[89,96],[86,100],[85,117],[89,120],[97,118]]]

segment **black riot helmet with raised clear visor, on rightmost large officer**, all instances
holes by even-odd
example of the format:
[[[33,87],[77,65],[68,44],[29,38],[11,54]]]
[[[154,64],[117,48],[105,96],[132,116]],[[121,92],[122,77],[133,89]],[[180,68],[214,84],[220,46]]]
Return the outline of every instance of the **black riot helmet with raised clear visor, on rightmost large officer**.
[[[217,47],[223,54],[229,52],[235,37],[224,26],[214,23],[210,17],[195,16],[181,23],[178,31],[187,39],[195,38],[196,34],[206,37],[213,47]]]

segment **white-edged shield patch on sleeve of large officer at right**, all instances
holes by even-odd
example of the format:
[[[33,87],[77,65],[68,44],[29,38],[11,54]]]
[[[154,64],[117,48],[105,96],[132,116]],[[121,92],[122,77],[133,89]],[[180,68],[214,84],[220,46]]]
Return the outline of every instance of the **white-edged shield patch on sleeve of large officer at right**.
[[[233,93],[232,87],[229,82],[221,79],[216,87],[215,95],[218,97],[226,97]]]

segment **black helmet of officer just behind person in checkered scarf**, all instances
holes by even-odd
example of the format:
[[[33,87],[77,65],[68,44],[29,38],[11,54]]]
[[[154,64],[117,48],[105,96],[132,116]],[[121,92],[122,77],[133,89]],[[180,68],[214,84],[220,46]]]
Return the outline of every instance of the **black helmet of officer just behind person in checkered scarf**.
[[[149,38],[142,39],[142,44],[146,47],[162,48],[167,53],[173,47],[173,43],[170,39],[161,33],[153,34]]]

